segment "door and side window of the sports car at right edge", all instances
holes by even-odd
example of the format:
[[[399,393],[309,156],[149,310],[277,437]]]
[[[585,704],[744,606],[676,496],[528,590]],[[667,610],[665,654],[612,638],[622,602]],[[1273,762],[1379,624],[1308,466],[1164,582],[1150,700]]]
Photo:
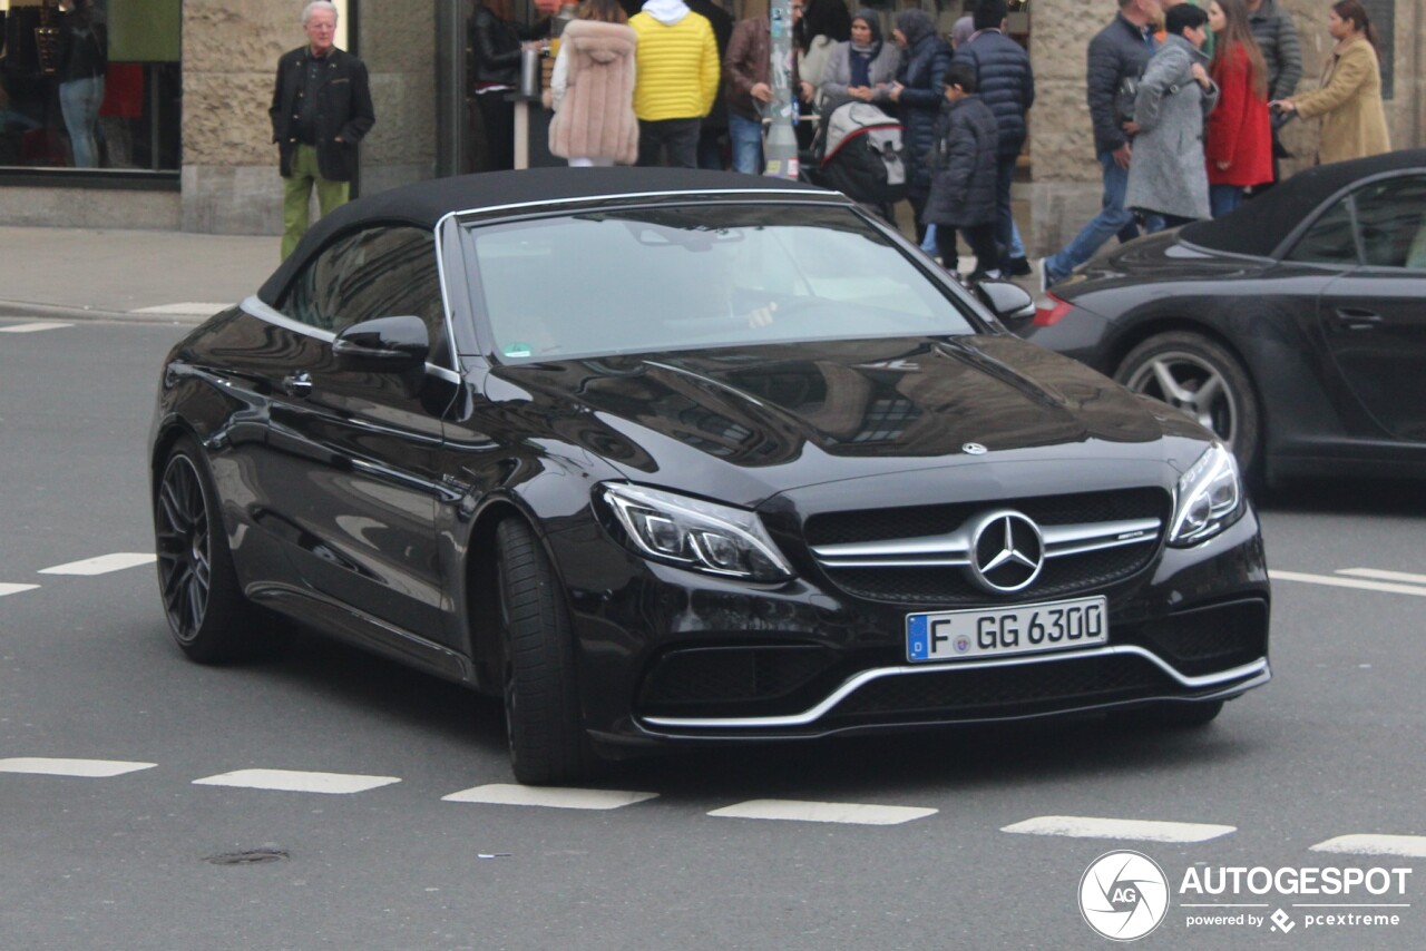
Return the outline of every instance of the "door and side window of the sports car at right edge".
[[[1426,175],[1368,183],[1349,205],[1362,264],[1323,288],[1322,335],[1370,419],[1426,442]]]

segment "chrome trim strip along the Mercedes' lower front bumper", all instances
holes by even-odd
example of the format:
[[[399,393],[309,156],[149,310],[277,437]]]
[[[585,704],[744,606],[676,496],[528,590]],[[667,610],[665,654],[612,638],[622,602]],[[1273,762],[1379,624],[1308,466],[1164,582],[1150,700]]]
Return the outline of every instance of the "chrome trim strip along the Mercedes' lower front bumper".
[[[964,660],[951,662],[940,664],[915,664],[903,667],[873,667],[871,670],[863,670],[861,673],[848,677],[841,683],[840,687],[833,690],[821,703],[803,710],[801,713],[793,713],[779,717],[639,717],[643,723],[659,727],[687,727],[687,729],[767,729],[767,727],[801,727],[810,723],[816,723],[838,703],[850,697],[853,693],[867,686],[873,680],[881,680],[883,677],[906,677],[923,673],[948,673],[953,670],[981,670],[987,667],[1017,667],[1024,664],[1037,663],[1058,663],[1062,660],[1082,660],[1085,657],[1115,657],[1115,656],[1135,656],[1144,660],[1152,662],[1164,673],[1176,680],[1181,686],[1188,690],[1201,690],[1204,687],[1214,687],[1218,684],[1229,684],[1235,680],[1243,680],[1249,677],[1262,677],[1261,683],[1266,683],[1271,677],[1268,670],[1268,659],[1259,657],[1258,660],[1233,667],[1231,670],[1221,670],[1218,673],[1201,674],[1198,677],[1188,677],[1181,674],[1172,666],[1168,664],[1158,654],[1151,650],[1145,650],[1138,644],[1115,644],[1109,647],[1097,647],[1094,650],[1077,650],[1074,653],[1062,652],[1055,654],[1024,654],[1018,657],[1002,657],[997,660]],[[1242,686],[1256,686],[1252,684]]]

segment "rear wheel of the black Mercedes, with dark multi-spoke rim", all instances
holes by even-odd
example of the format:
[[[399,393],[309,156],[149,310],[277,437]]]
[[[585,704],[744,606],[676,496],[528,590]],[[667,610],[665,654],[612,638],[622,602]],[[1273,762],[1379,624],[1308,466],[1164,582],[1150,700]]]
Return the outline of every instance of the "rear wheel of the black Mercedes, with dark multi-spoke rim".
[[[154,492],[154,550],[168,629],[198,663],[264,653],[271,622],[242,596],[202,452],[184,436],[168,453]]]

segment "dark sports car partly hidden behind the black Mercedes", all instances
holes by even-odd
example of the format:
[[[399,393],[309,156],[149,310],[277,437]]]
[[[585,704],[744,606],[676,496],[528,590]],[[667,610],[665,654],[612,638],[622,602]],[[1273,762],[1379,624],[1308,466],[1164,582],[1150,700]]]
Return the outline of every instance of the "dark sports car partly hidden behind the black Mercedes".
[[[1181,408],[1265,482],[1420,478],[1423,301],[1415,150],[1320,165],[1105,252],[1012,328]]]

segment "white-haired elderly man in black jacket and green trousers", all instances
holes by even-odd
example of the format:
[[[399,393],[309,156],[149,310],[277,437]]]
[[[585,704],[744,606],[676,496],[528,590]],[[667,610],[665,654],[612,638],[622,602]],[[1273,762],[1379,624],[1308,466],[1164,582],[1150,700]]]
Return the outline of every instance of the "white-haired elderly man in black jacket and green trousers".
[[[272,88],[272,141],[282,174],[282,257],[307,234],[308,204],[325,215],[347,202],[356,174],[356,143],[375,124],[366,67],[338,50],[337,7],[312,0],[302,9],[307,46],[277,63]]]

